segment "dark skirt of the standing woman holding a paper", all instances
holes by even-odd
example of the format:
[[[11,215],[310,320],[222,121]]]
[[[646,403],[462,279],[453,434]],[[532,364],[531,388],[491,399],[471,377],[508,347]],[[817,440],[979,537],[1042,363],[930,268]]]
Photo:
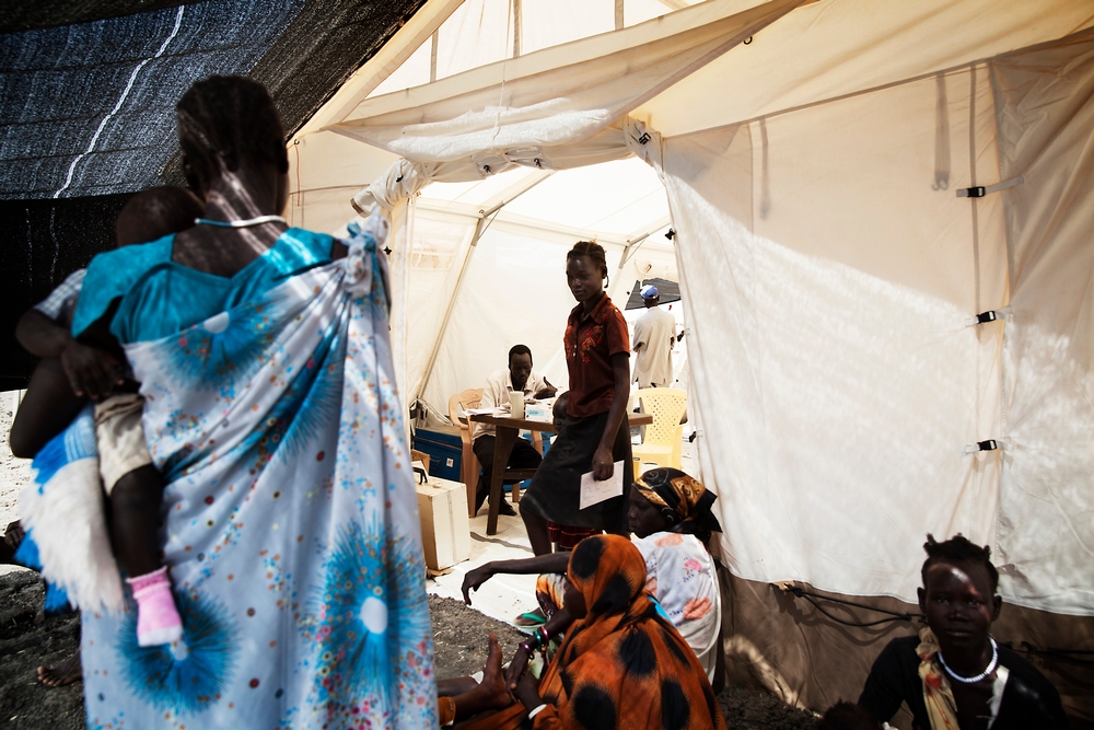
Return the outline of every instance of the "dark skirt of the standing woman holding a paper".
[[[624,417],[612,447],[612,460],[624,463],[624,490],[585,509],[581,503],[581,475],[593,471],[593,454],[600,445],[607,424],[607,413],[587,418],[567,418],[562,431],[544,456],[532,477],[532,484],[521,495],[521,510],[577,528],[596,528],[628,534],[627,510],[630,485],[635,482],[635,462],[630,453],[630,426]]]

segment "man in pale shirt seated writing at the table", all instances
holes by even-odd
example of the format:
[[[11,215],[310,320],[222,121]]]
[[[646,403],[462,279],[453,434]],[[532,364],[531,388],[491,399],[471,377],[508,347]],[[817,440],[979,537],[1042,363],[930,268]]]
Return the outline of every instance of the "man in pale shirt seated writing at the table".
[[[509,368],[494,370],[486,381],[482,389],[482,401],[480,408],[497,408],[509,403],[510,393],[524,393],[524,397],[533,395],[537,398],[550,398],[555,396],[555,386],[540,378],[532,369],[532,350],[525,345],[514,345],[509,350]],[[475,431],[472,450],[478,456],[479,464],[482,465],[482,475],[479,477],[478,487],[475,490],[475,511],[478,512],[482,502],[490,494],[490,474],[493,472],[493,447],[494,427],[489,424],[475,424]],[[510,468],[536,468],[543,456],[532,448],[532,444],[524,439],[517,439],[513,445],[513,451],[509,455],[508,466]],[[511,484],[511,482],[507,482]],[[505,501],[502,495],[501,505],[498,506],[499,514],[514,515],[516,512]]]

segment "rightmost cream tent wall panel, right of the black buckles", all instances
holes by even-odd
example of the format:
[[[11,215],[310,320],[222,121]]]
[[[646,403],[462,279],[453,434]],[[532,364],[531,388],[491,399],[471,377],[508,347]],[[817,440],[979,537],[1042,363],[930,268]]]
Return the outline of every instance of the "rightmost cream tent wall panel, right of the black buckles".
[[[1013,320],[999,554],[1009,599],[1094,612],[1094,33],[992,63]]]

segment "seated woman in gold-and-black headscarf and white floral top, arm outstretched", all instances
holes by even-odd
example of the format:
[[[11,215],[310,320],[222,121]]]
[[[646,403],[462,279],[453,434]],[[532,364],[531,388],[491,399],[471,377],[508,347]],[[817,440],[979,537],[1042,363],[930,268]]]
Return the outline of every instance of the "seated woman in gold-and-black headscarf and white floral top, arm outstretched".
[[[722,615],[718,576],[707,548],[711,533],[721,532],[711,512],[717,498],[679,470],[655,468],[635,482],[628,512],[630,530],[638,537],[635,545],[645,560],[647,591],[691,647],[711,681]],[[464,578],[464,601],[469,604],[470,591],[496,573],[542,573],[536,599],[548,621],[536,629],[529,644],[533,648],[547,646],[573,619],[562,592],[568,561],[568,554],[556,553],[487,563]],[[519,651],[514,662],[527,659]]]

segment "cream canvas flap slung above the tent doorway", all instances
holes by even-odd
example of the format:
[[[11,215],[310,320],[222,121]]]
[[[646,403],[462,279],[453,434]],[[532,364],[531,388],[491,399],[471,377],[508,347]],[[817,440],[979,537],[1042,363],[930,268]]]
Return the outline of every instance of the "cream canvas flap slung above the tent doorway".
[[[662,35],[662,25],[670,21],[659,19],[607,38],[594,36],[501,61],[430,84],[427,91],[366,101],[354,113],[365,118],[331,128],[422,162],[470,160],[521,148],[539,148],[549,160],[547,148],[590,137],[801,2],[771,0],[712,21],[712,12],[733,4],[715,0],[705,3],[712,8],[702,12],[670,16],[674,24],[688,24],[670,35]],[[604,53],[613,44],[622,47]],[[592,57],[540,70],[543,56],[560,54]],[[475,81],[485,83],[461,90]],[[440,94],[443,99],[429,99]],[[407,104],[384,109],[404,100]]]

